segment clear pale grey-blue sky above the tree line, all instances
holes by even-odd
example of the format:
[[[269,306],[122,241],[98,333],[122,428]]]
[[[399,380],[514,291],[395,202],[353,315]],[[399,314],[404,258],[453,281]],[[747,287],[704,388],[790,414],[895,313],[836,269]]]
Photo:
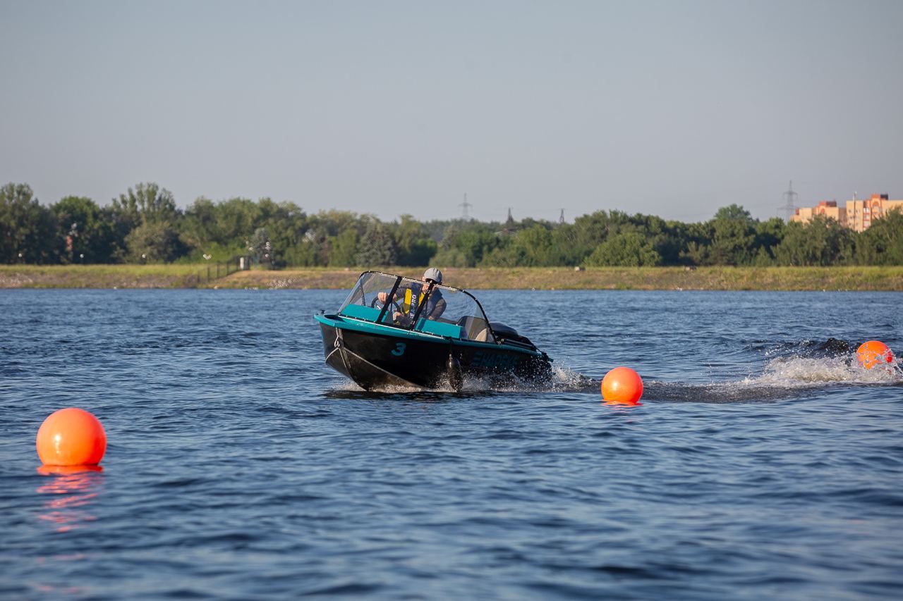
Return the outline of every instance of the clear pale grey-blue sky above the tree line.
[[[0,184],[394,219],[903,198],[903,2],[0,0]]]

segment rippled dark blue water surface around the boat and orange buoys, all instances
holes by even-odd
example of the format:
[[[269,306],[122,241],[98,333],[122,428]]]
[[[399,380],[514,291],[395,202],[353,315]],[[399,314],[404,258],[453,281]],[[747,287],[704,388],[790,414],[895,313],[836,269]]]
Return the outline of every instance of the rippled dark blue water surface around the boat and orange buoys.
[[[344,291],[0,291],[0,597],[889,598],[903,294],[487,291],[546,391],[365,393]],[[600,402],[617,365],[643,405]],[[575,374],[596,379],[586,387]],[[78,406],[102,471],[44,475]]]

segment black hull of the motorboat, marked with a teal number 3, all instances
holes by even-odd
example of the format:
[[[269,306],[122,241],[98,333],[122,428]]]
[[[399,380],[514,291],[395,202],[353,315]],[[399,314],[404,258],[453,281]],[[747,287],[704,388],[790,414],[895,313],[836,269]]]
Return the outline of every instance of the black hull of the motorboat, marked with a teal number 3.
[[[461,388],[467,377],[493,384],[548,381],[552,367],[543,354],[436,337],[397,337],[320,324],[326,364],[365,390],[390,387]]]

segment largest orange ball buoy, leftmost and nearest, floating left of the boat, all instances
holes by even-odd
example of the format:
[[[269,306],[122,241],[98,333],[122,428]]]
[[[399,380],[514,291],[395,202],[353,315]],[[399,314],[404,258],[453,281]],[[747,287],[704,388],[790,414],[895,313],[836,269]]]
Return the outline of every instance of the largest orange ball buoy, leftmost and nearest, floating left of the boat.
[[[107,433],[88,411],[54,411],[41,424],[35,446],[45,466],[93,466],[107,450]]]

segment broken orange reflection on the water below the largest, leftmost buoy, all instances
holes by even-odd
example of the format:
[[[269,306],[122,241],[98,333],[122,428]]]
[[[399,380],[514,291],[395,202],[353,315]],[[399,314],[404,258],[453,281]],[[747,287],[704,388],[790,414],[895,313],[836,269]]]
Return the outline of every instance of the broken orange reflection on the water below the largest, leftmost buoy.
[[[40,518],[56,526],[57,532],[69,532],[97,516],[87,506],[97,496],[104,483],[101,466],[41,466],[38,473],[50,481],[38,486],[39,495],[54,495],[43,504]]]

